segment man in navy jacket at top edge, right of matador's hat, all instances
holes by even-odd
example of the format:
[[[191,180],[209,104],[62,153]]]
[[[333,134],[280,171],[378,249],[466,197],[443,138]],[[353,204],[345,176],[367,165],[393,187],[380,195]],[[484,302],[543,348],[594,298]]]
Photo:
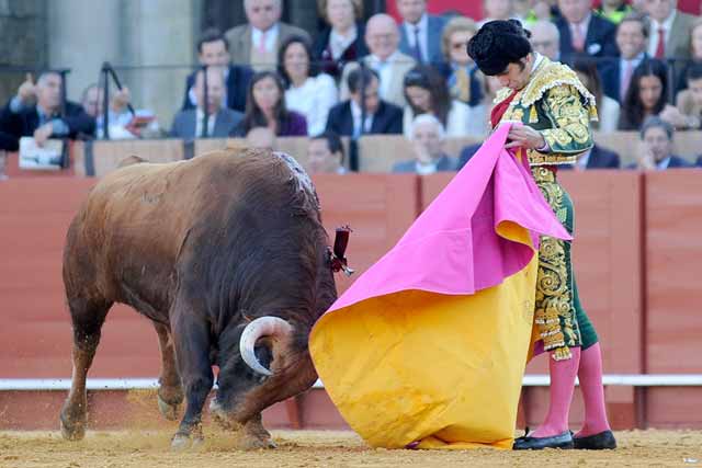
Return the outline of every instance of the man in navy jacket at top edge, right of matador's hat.
[[[556,20],[561,33],[561,57],[571,62],[574,56],[614,57],[615,26],[592,14],[592,0],[558,0],[562,16]]]

